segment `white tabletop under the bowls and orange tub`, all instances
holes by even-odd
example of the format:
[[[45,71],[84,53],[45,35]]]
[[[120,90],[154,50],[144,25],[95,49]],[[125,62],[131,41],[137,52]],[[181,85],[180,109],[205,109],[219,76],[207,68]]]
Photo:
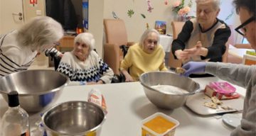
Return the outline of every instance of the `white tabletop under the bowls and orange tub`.
[[[215,77],[194,79],[204,89],[209,81],[219,81]],[[238,93],[245,95],[245,89],[235,86]],[[57,103],[65,101],[87,101],[87,94],[92,88],[102,91],[107,103],[107,120],[102,126],[101,136],[139,136],[141,122],[144,118],[156,112],[165,113],[180,122],[175,136],[197,135],[230,135],[233,130],[224,125],[221,119],[214,116],[201,116],[188,110],[185,106],[174,111],[156,108],[145,96],[139,82],[104,84],[91,86],[67,86]],[[0,115],[7,109],[7,103],[0,96]],[[32,115],[35,118],[38,115]]]

